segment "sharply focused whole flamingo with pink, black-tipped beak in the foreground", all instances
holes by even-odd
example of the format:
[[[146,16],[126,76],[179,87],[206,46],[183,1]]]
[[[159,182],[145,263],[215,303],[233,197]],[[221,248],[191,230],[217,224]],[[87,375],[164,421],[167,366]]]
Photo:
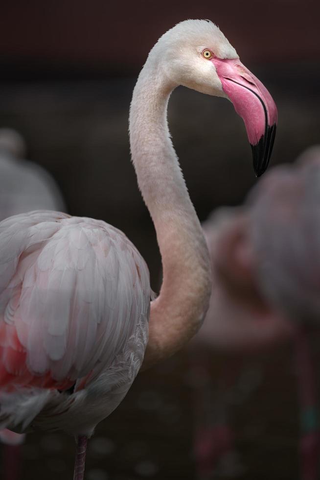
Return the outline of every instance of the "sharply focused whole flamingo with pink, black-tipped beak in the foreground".
[[[150,51],[129,122],[163,265],[156,299],[135,246],[102,220],[34,211],[0,222],[0,426],[75,435],[75,480],[84,478],[88,438],[140,367],[181,348],[208,307],[206,241],[166,120],[178,85],[233,102],[256,175],[268,166],[277,117],[267,89],[212,22],[177,24]]]

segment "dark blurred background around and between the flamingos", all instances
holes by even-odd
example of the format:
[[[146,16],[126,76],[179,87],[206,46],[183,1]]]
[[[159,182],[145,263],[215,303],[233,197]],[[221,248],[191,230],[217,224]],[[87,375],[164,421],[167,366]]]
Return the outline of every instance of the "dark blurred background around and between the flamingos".
[[[3,2],[0,126],[23,134],[28,158],[53,175],[70,214],[101,218],[127,234],[158,291],[160,256],[128,142],[131,94],[148,51],[179,21],[206,18],[218,24],[277,104],[271,166],[292,162],[308,145],[319,143],[317,3]],[[241,203],[256,180],[245,127],[231,103],[180,87],[170,100],[169,122],[200,219],[217,206]],[[254,357],[211,352],[208,358],[217,390],[228,365],[231,370],[244,365],[231,374],[228,387],[234,447],[217,459],[212,478],[298,479],[291,347]],[[88,480],[196,478],[189,363],[185,351],[138,377],[91,440]],[[70,479],[73,449],[73,439],[65,435],[30,434],[22,478]]]

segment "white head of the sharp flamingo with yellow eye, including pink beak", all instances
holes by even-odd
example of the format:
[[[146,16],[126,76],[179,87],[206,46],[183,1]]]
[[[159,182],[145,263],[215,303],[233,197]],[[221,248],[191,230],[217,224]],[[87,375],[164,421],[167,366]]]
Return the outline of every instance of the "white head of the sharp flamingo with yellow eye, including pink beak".
[[[221,30],[207,20],[186,20],[160,37],[150,52],[174,85],[229,98],[245,122],[256,176],[267,169],[277,109],[266,87],[239,60]]]

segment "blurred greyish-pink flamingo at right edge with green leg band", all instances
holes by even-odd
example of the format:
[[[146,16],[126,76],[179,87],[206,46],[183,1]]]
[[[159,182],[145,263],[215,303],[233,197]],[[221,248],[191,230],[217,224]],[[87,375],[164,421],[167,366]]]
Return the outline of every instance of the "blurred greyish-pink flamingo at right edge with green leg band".
[[[294,166],[274,168],[249,202],[252,252],[248,266],[254,268],[264,301],[294,327],[301,478],[317,480],[319,410],[309,340],[317,331],[320,313],[320,146],[305,150]],[[267,230],[268,244],[263,238]]]

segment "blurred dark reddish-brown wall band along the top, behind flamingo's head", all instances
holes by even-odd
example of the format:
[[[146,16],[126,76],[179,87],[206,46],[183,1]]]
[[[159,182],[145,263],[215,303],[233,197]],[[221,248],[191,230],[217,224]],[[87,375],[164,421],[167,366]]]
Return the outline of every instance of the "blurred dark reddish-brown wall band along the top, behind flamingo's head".
[[[74,62],[132,72],[174,24],[208,18],[243,61],[315,61],[318,5],[315,0],[7,1],[1,6],[0,54],[12,62]]]

